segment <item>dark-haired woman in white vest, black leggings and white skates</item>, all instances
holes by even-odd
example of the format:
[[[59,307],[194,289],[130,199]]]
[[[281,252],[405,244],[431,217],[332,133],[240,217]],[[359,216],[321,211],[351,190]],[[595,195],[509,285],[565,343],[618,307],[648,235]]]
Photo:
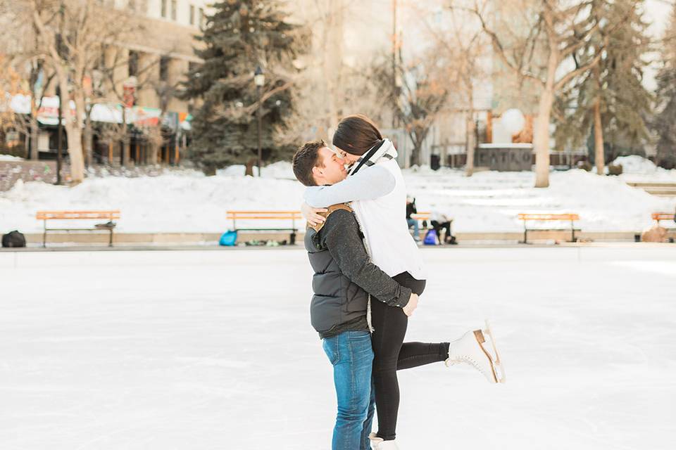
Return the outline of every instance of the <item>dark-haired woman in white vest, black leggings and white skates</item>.
[[[373,263],[401,285],[418,295],[425,290],[423,259],[415,244],[406,217],[406,184],[396,162],[396,149],[383,139],[368,117],[351,115],[338,125],[333,137],[335,151],[351,164],[349,176],[333,186],[307,188],[303,214],[311,223],[323,220],[316,212],[337,203],[351,202]],[[309,206],[308,206],[309,205]],[[375,449],[396,449],[396,418],[399,411],[399,383],[396,371],[446,361],[475,366],[492,383],[498,382],[493,359],[482,347],[482,330],[448,342],[403,342],[408,315],[402,307],[370,302],[373,383],[378,414],[378,432],[372,435]],[[489,330],[487,330],[490,333]],[[491,339],[492,340],[492,339]],[[503,377],[501,377],[503,379]]]

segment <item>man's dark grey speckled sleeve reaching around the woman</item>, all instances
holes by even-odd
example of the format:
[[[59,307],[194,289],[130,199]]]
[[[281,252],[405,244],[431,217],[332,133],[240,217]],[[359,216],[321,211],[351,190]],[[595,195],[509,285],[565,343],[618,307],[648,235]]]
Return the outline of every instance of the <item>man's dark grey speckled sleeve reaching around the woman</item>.
[[[321,230],[323,243],[350,280],[391,307],[405,307],[411,289],[396,281],[371,262],[359,234],[354,215],[346,210],[332,212]]]

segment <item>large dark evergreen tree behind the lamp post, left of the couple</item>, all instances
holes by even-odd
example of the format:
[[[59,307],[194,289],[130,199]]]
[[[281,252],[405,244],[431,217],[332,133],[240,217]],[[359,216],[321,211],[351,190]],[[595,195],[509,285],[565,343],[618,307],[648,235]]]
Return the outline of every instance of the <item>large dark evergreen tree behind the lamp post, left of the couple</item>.
[[[246,164],[258,155],[258,94],[253,72],[265,72],[261,88],[263,160],[290,156],[277,146],[275,129],[292,111],[292,61],[299,50],[299,29],[287,22],[276,0],[224,0],[206,18],[203,44],[195,49],[204,63],[183,83],[182,98],[197,102],[192,112],[192,158],[205,172]]]

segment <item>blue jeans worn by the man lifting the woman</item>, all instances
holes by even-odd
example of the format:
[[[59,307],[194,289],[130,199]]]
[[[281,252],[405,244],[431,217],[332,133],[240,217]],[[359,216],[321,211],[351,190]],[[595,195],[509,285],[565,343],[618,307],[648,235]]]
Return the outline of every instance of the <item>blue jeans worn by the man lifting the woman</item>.
[[[338,416],[332,450],[368,450],[375,393],[371,369],[373,348],[368,331],[346,331],[325,338],[324,352],[333,365]]]

